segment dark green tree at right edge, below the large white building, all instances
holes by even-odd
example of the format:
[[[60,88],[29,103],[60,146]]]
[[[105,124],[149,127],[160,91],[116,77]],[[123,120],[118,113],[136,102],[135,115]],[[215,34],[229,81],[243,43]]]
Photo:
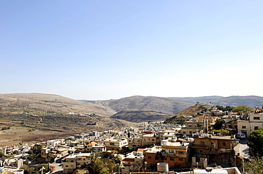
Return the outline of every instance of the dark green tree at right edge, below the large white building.
[[[250,132],[247,140],[247,145],[252,149],[254,155],[263,156],[263,128],[258,127],[257,130]]]

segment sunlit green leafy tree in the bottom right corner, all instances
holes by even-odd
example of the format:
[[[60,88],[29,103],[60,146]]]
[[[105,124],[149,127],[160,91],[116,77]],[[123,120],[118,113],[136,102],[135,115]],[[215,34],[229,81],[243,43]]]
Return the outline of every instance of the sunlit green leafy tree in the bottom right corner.
[[[252,158],[249,161],[244,161],[242,166],[245,168],[246,173],[263,174],[263,158]]]

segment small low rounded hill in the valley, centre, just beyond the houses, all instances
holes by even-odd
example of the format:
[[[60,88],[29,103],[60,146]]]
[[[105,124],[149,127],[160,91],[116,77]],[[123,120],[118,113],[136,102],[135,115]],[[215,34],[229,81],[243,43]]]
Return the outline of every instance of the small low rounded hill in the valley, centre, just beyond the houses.
[[[166,120],[171,115],[154,111],[119,111],[110,118],[127,120],[129,122],[154,122],[156,120]]]

